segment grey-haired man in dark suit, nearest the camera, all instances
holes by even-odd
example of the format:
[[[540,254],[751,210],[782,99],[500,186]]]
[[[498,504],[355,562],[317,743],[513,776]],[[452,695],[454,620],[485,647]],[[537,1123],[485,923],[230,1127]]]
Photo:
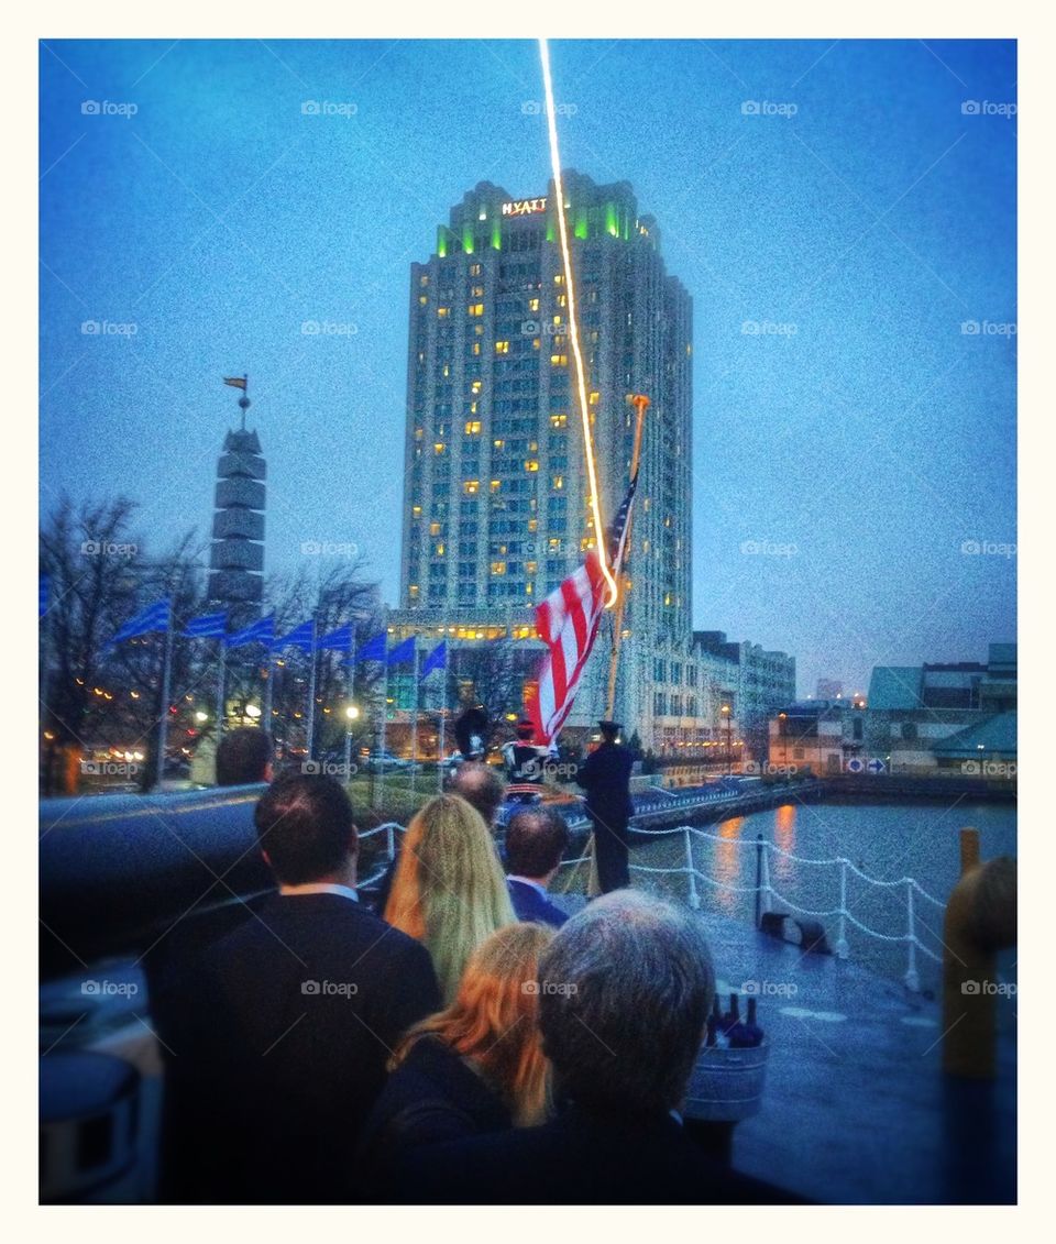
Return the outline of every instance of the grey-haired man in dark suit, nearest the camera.
[[[800,1198],[715,1162],[678,1108],[715,977],[692,913],[634,891],[590,903],[539,965],[555,1118],[403,1157],[413,1204],[765,1204]]]

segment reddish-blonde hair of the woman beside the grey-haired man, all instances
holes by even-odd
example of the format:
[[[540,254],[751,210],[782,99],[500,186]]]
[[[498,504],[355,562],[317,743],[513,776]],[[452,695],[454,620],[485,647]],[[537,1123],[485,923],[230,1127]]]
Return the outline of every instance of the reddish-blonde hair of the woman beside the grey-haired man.
[[[447,1010],[415,1024],[389,1070],[423,1036],[460,1054],[510,1110],[517,1127],[546,1118],[547,1062],[539,1031],[539,959],[553,940],[544,924],[510,924],[470,955],[458,995]]]

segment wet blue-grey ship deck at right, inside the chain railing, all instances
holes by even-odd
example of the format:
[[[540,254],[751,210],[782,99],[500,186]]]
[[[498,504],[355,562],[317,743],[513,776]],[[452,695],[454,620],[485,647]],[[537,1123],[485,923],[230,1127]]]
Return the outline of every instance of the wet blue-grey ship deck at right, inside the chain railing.
[[[720,993],[751,982],[771,1041],[761,1111],[734,1131],[738,1169],[818,1202],[1015,1200],[1015,998],[999,999],[996,1084],[950,1082],[939,1001],[699,914]]]

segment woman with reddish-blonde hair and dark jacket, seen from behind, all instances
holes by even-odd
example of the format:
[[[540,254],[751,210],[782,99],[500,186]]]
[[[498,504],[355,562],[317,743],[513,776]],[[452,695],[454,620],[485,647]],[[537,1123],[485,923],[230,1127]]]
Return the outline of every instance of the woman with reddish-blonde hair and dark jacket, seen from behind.
[[[547,1062],[536,1024],[542,924],[510,924],[470,955],[455,1000],[415,1024],[367,1122],[361,1161],[387,1188],[420,1144],[461,1140],[546,1117]]]

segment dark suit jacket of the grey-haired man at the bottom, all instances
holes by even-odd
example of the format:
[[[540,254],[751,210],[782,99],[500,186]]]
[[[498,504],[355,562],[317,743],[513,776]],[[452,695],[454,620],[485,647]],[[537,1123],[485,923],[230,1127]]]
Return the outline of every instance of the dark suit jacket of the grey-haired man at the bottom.
[[[714,1162],[670,1115],[570,1106],[542,1127],[404,1156],[407,1204],[787,1204],[801,1198]]]

